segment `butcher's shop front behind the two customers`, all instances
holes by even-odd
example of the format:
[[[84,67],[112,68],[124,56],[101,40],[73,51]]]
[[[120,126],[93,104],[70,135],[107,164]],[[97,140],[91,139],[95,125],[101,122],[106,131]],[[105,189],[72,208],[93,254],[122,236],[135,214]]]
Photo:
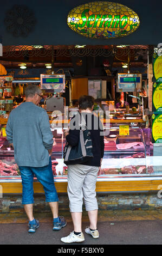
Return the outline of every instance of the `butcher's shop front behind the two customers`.
[[[80,2],[83,2],[80,4],[85,3],[85,1]],[[130,4],[126,4],[126,2],[121,4],[130,7]],[[76,7],[76,4],[75,6],[73,4],[73,7],[66,4],[65,6],[67,9],[69,8],[68,11],[64,8],[67,17],[69,11]],[[34,33],[31,31],[31,34],[27,35],[25,43],[21,30],[17,38],[14,37],[13,33],[10,33],[11,38],[13,38],[12,41],[17,40],[12,46],[6,44],[6,32],[2,36],[2,42],[4,41],[5,44],[2,44],[3,56],[0,57],[0,62],[5,66],[7,74],[3,74],[0,78],[2,84],[0,184],[3,198],[8,205],[7,207],[5,203],[2,204],[2,212],[12,209],[11,202],[15,202],[13,206],[16,207],[17,205],[18,208],[18,202],[20,202],[18,198],[21,197],[22,193],[21,176],[14,161],[14,149],[10,147],[5,137],[5,125],[12,107],[16,107],[23,100],[24,88],[31,83],[39,86],[41,74],[63,74],[65,77],[64,92],[54,95],[55,98],[59,96],[59,98],[65,99],[61,106],[60,104],[57,105],[62,114],[57,114],[54,109],[52,109],[53,111],[47,109],[54,136],[51,157],[54,181],[62,202],[64,202],[63,193],[67,192],[67,166],[63,163],[63,148],[66,139],[63,137],[63,129],[66,129],[70,117],[78,110],[77,100],[79,96],[89,94],[95,97],[95,111],[98,112],[100,109],[101,120],[105,127],[105,154],[102,160],[101,174],[98,176],[96,184],[96,192],[98,192],[100,201],[99,208],[120,209],[121,205],[126,205],[126,209],[161,208],[161,194],[158,193],[162,186],[161,130],[159,130],[158,135],[152,136],[153,119],[156,119],[157,115],[161,113],[159,105],[153,109],[154,106],[157,106],[153,102],[153,95],[158,100],[158,104],[161,104],[160,90],[157,89],[161,80],[160,76],[156,77],[154,74],[154,59],[160,57],[158,56],[160,49],[159,32],[156,33],[157,38],[150,41],[150,37],[147,37],[148,27],[145,26],[145,11],[145,15],[142,16],[137,5],[130,8],[135,9],[140,17],[140,26],[131,35],[119,38],[104,39],[101,36],[96,39],[88,38],[74,33],[72,29],[68,28],[67,23],[66,26],[62,26],[64,35],[67,33],[63,42],[66,42],[67,45],[62,44],[62,34],[58,34],[58,29],[55,37],[57,44],[53,43],[53,36],[51,38],[45,36],[46,40],[44,41],[46,32],[44,35],[40,33],[40,40],[37,42],[35,37],[31,40],[31,34]],[[148,3],[149,8],[151,7]],[[16,7],[11,7],[11,9],[12,11],[17,10]],[[55,20],[57,20],[57,15]],[[31,21],[35,27],[36,18],[34,16],[31,12]],[[102,17],[100,18],[102,19]],[[87,21],[88,19],[87,17]],[[158,26],[157,23],[157,26],[154,27],[155,31],[157,31]],[[35,34],[38,33],[37,30],[35,32]],[[141,34],[146,36],[142,38],[142,36],[140,37]],[[72,35],[71,39],[70,35]],[[84,47],[79,48],[76,45]],[[156,57],[153,59],[153,56]],[[9,65],[9,62],[12,62],[12,65]],[[18,65],[23,66],[23,63],[27,68],[21,70]],[[45,64],[48,63],[51,64],[51,68],[46,69]],[[160,63],[159,60],[159,74],[161,72]],[[127,68],[122,68],[124,64],[127,64]],[[127,74],[125,77],[122,76],[123,79],[133,78],[133,83],[130,82],[130,79],[127,80],[129,89],[122,87],[119,74]],[[130,90],[132,84],[133,87]],[[155,94],[152,93],[154,89],[156,89]],[[45,89],[42,92],[45,99],[53,93],[51,90],[48,92]],[[115,107],[118,102],[117,98],[121,95],[124,100],[128,101],[129,108]],[[47,104],[42,102],[40,106],[46,108]],[[158,108],[159,111],[157,111]],[[55,109],[55,111],[57,110]],[[108,115],[105,114],[106,111],[109,111]],[[153,114],[155,117],[153,116],[152,119]],[[156,139],[153,140],[153,138]],[[34,179],[34,191],[36,194],[38,193],[38,198],[43,193],[43,187],[36,178]],[[13,199],[15,194],[17,194],[17,199]],[[106,195],[102,196],[103,194]]]

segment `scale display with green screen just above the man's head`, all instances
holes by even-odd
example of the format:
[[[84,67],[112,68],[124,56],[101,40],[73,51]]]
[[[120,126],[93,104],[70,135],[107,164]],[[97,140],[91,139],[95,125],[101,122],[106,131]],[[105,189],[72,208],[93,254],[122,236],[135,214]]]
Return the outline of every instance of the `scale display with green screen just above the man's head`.
[[[65,92],[65,75],[41,74],[41,89],[54,90],[54,93]]]

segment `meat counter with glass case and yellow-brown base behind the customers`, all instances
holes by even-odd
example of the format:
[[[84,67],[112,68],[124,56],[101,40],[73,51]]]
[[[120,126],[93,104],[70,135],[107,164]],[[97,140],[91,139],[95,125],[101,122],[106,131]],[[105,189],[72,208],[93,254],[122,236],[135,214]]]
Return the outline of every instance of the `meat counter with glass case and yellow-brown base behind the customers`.
[[[63,148],[66,139],[63,135],[67,121],[51,118],[53,132],[52,169],[57,192],[67,192],[67,166],[63,162]],[[1,120],[0,120],[1,121]],[[0,184],[3,193],[22,193],[21,176],[14,160],[14,149],[7,141],[5,125],[1,121],[0,136]],[[57,123],[57,126],[56,126]],[[59,123],[59,125],[58,125]],[[152,192],[158,191],[162,182],[161,156],[153,156],[151,129],[142,117],[113,112],[107,123],[102,119],[105,136],[105,154],[96,192]],[[67,126],[66,126],[67,127]],[[124,130],[122,128],[125,127]],[[43,193],[42,185],[34,178],[35,193]]]

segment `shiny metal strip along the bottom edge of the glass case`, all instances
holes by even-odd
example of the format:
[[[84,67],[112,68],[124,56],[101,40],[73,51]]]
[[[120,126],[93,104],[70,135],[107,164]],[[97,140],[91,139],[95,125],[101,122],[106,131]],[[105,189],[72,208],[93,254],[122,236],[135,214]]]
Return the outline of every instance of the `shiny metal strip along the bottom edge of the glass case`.
[[[101,181],[136,181],[136,180],[162,180],[162,175],[152,175],[152,176],[105,176],[97,178],[98,182]],[[67,182],[67,178],[55,178],[55,182]],[[5,176],[0,177],[0,184],[1,183],[20,183],[22,182],[21,178],[15,178],[15,176],[10,176],[9,178],[6,178]],[[38,182],[38,180],[35,178],[34,182]]]

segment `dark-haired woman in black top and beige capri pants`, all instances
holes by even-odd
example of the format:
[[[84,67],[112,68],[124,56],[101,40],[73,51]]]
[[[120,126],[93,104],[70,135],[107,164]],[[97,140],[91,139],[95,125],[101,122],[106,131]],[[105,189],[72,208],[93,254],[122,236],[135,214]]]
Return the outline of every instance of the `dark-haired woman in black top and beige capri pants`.
[[[83,198],[90,222],[85,232],[92,235],[94,239],[99,237],[99,231],[97,229],[98,203],[96,200],[95,186],[104,153],[102,123],[99,121],[98,116],[96,117],[96,115],[92,113],[94,107],[94,99],[92,96],[81,96],[78,107],[83,118],[86,120],[87,129],[90,130],[93,145],[93,158],[82,164],[71,164],[68,166],[69,208],[74,230],[70,235],[61,238],[61,241],[65,243],[82,242],[85,240],[82,233]],[[89,120],[92,121],[92,125],[89,125],[91,123]],[[74,120],[72,119],[70,123],[74,124]],[[67,142],[74,147],[79,142],[80,130],[70,129],[65,131],[64,135]]]

